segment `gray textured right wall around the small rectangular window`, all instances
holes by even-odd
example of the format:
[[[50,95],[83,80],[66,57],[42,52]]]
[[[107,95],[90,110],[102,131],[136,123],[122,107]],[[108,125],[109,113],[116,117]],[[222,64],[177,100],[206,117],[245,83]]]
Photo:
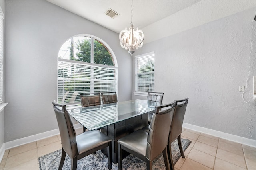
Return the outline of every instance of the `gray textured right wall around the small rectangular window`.
[[[163,102],[189,97],[185,123],[256,139],[256,102],[244,102],[238,92],[239,86],[246,86],[255,11],[147,43],[137,51],[136,55],[156,51],[155,91],[164,92]],[[253,32],[246,100],[252,97],[252,76],[256,76],[255,21]],[[133,92],[134,82],[135,77]]]

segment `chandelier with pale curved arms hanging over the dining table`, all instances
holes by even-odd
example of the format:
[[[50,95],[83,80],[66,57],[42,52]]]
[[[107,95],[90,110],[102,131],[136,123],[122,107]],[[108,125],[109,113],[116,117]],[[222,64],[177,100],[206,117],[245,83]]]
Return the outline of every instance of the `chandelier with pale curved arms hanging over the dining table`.
[[[125,28],[119,33],[119,40],[121,47],[124,49],[129,49],[129,53],[132,55],[134,49],[142,47],[144,39],[144,33],[142,30],[137,28],[134,30],[133,23],[131,21],[131,26],[129,29]]]

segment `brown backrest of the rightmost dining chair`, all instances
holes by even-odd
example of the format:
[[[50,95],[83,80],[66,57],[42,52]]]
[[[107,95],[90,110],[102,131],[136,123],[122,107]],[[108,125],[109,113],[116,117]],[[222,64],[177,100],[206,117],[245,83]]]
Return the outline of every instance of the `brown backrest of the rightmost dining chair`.
[[[170,143],[178,138],[182,132],[182,124],[184,120],[184,115],[188,105],[188,98],[177,100],[177,106],[174,110],[174,115],[172,118],[172,124],[170,129]]]

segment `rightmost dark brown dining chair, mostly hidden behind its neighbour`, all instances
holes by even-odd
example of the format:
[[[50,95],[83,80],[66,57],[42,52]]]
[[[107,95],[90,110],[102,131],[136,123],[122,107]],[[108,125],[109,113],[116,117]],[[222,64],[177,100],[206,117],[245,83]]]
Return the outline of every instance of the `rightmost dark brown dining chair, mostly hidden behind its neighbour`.
[[[172,170],[174,170],[174,164],[173,164],[173,160],[172,160],[171,144],[176,139],[178,140],[180,154],[181,154],[182,158],[185,158],[185,155],[184,155],[184,152],[182,149],[182,145],[181,145],[181,132],[182,132],[182,124],[183,124],[183,119],[184,119],[187,105],[188,105],[188,98],[185,98],[182,100],[177,100],[177,106],[175,107],[174,115],[172,118],[172,124],[171,124],[171,128],[170,128],[170,136],[169,136],[169,140],[168,140],[168,151],[167,151],[169,163],[170,163]]]

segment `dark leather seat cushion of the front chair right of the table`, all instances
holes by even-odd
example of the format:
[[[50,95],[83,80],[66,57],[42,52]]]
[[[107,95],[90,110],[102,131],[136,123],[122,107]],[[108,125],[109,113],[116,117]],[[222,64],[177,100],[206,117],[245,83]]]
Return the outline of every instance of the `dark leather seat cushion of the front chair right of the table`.
[[[130,135],[122,137],[117,142],[124,147],[136,151],[138,154],[146,156],[148,133],[146,131],[138,130]]]

